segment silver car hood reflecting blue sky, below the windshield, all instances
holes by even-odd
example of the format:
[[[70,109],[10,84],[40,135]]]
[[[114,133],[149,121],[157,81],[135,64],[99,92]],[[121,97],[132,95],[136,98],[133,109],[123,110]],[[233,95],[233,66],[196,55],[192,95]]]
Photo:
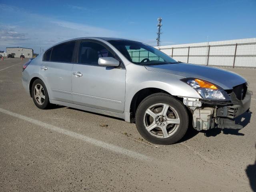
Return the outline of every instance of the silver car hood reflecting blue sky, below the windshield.
[[[234,86],[243,84],[246,80],[234,73],[227,70],[209,67],[209,66],[201,66],[195,64],[163,64],[163,65],[150,65],[145,66],[147,70],[156,71],[156,72],[164,72],[168,74],[174,74],[181,76],[183,78],[200,78],[209,82],[212,82],[224,90],[233,89]]]

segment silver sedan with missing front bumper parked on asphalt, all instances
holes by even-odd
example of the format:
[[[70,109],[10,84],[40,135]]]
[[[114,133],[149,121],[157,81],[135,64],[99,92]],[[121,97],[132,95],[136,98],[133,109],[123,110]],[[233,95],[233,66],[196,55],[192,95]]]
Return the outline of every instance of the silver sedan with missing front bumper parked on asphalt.
[[[194,129],[235,128],[252,92],[238,74],[177,62],[141,42],[76,38],[48,48],[22,68],[34,104],[58,104],[136,123],[156,144],[178,142]]]

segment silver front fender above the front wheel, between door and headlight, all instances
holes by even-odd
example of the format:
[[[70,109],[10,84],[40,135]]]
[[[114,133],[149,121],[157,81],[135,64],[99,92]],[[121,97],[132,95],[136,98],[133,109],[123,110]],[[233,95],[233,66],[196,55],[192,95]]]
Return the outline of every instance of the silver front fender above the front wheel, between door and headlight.
[[[201,98],[196,90],[180,81],[182,76],[146,70],[144,66],[130,64],[126,66],[125,112],[130,112],[134,95],[145,88],[158,88],[172,96]]]

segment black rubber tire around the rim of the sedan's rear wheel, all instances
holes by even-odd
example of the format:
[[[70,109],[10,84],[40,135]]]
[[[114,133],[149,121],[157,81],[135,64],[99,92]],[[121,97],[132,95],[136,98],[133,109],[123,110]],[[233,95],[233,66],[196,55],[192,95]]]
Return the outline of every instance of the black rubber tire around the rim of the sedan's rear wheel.
[[[43,90],[44,90],[44,102],[42,104],[39,104],[38,103],[38,98],[36,99],[35,98],[35,86],[36,85],[41,85],[43,87]],[[32,87],[31,87],[31,95],[32,95],[32,98],[33,98],[33,101],[34,101],[34,104],[40,108],[40,109],[47,109],[50,107],[50,101],[49,101],[49,96],[48,96],[48,92],[47,92],[47,89],[46,89],[46,86],[44,85],[44,83],[42,82],[42,80],[40,79],[36,79],[33,84],[32,84]],[[41,100],[42,101],[42,100]]]

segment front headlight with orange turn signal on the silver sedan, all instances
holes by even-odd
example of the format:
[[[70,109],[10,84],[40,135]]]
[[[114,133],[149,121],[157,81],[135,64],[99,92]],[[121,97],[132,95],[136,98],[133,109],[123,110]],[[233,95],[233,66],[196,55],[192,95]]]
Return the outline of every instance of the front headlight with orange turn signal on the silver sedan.
[[[201,96],[203,99],[209,100],[226,100],[228,96],[225,94],[225,91],[214,85],[208,81],[197,79],[197,78],[185,78],[182,79],[183,82],[192,86]]]

